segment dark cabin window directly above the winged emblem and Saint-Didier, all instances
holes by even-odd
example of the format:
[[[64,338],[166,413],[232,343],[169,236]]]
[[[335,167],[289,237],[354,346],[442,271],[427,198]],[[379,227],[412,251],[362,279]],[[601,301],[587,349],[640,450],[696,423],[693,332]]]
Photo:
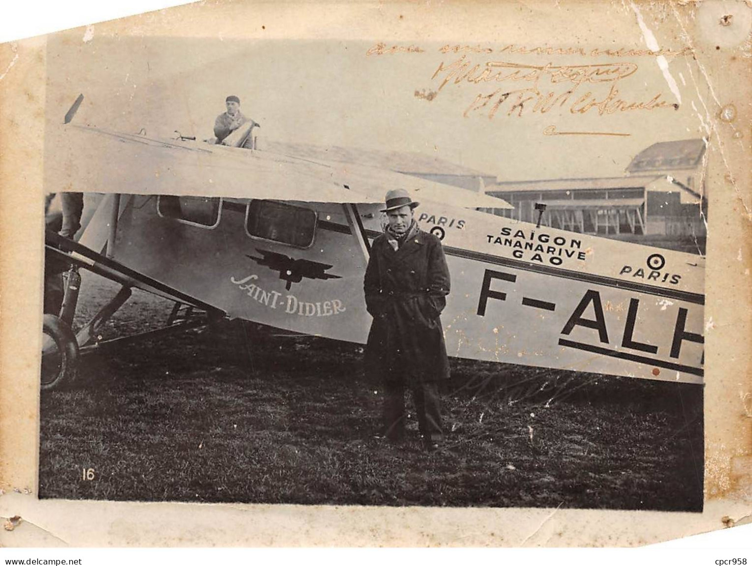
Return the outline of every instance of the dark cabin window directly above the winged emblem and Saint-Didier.
[[[248,236],[310,248],[316,234],[316,212],[273,200],[252,200],[245,215]]]

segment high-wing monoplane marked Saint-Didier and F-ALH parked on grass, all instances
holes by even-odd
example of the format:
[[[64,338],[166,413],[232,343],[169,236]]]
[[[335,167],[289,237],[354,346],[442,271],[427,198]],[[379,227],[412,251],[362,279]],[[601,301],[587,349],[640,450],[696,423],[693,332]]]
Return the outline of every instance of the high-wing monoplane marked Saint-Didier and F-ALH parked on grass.
[[[384,169],[235,147],[242,129],[226,146],[65,121],[47,133],[46,190],[86,199],[75,240],[47,232],[71,276],[44,317],[43,388],[73,379],[82,352],[213,318],[365,343],[362,280],[394,187],[444,245],[450,356],[702,382],[700,256],[502,218],[502,199]],[[121,291],[74,335],[78,269]],[[103,341],[132,288],[174,301],[165,327]]]

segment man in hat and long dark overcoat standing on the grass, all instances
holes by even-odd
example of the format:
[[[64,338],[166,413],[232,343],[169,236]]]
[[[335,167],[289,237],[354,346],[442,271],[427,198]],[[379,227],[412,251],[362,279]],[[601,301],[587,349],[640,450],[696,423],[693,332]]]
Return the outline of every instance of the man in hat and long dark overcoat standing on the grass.
[[[408,192],[390,190],[386,202],[389,224],[371,245],[363,285],[373,317],[366,373],[384,383],[384,436],[404,439],[405,389],[410,388],[430,451],[444,437],[438,382],[449,377],[449,361],[439,315],[449,294],[449,269],[439,239],[417,226],[418,203]]]

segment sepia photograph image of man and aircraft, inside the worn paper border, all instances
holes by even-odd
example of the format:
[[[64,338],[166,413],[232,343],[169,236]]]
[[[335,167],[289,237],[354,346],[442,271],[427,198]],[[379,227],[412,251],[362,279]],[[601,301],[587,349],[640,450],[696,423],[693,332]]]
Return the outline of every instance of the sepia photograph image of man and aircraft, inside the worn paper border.
[[[687,44],[78,35],[40,498],[702,512]]]

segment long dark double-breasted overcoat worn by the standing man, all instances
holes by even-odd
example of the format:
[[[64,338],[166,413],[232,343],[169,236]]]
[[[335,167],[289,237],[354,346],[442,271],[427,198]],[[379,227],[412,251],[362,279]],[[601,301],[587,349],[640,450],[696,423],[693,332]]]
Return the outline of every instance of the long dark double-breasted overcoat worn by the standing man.
[[[382,379],[449,377],[439,315],[449,294],[449,268],[441,242],[418,233],[394,250],[382,234],[371,245],[365,269],[365,305],[374,318],[365,346],[365,371]]]

